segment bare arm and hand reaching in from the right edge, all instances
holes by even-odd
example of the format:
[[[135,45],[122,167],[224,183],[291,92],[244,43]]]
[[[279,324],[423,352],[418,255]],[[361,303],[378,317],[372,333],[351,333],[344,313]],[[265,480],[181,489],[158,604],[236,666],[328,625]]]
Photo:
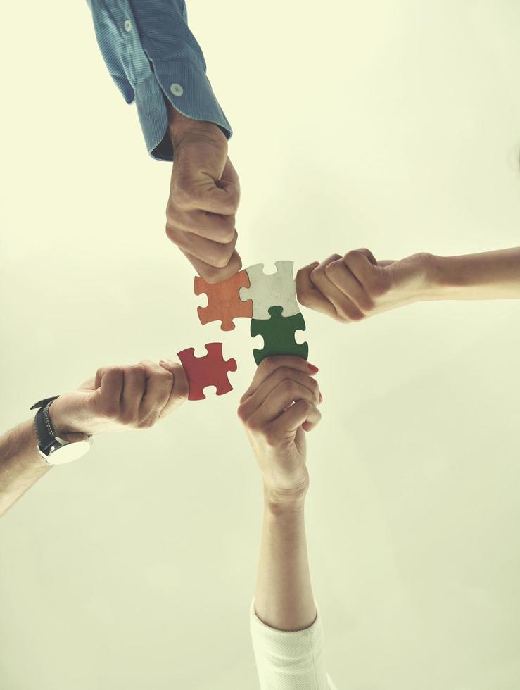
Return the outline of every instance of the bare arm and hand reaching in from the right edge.
[[[300,269],[296,286],[302,304],[343,323],[417,301],[520,299],[520,247],[400,261],[376,261],[369,249],[356,249]]]

